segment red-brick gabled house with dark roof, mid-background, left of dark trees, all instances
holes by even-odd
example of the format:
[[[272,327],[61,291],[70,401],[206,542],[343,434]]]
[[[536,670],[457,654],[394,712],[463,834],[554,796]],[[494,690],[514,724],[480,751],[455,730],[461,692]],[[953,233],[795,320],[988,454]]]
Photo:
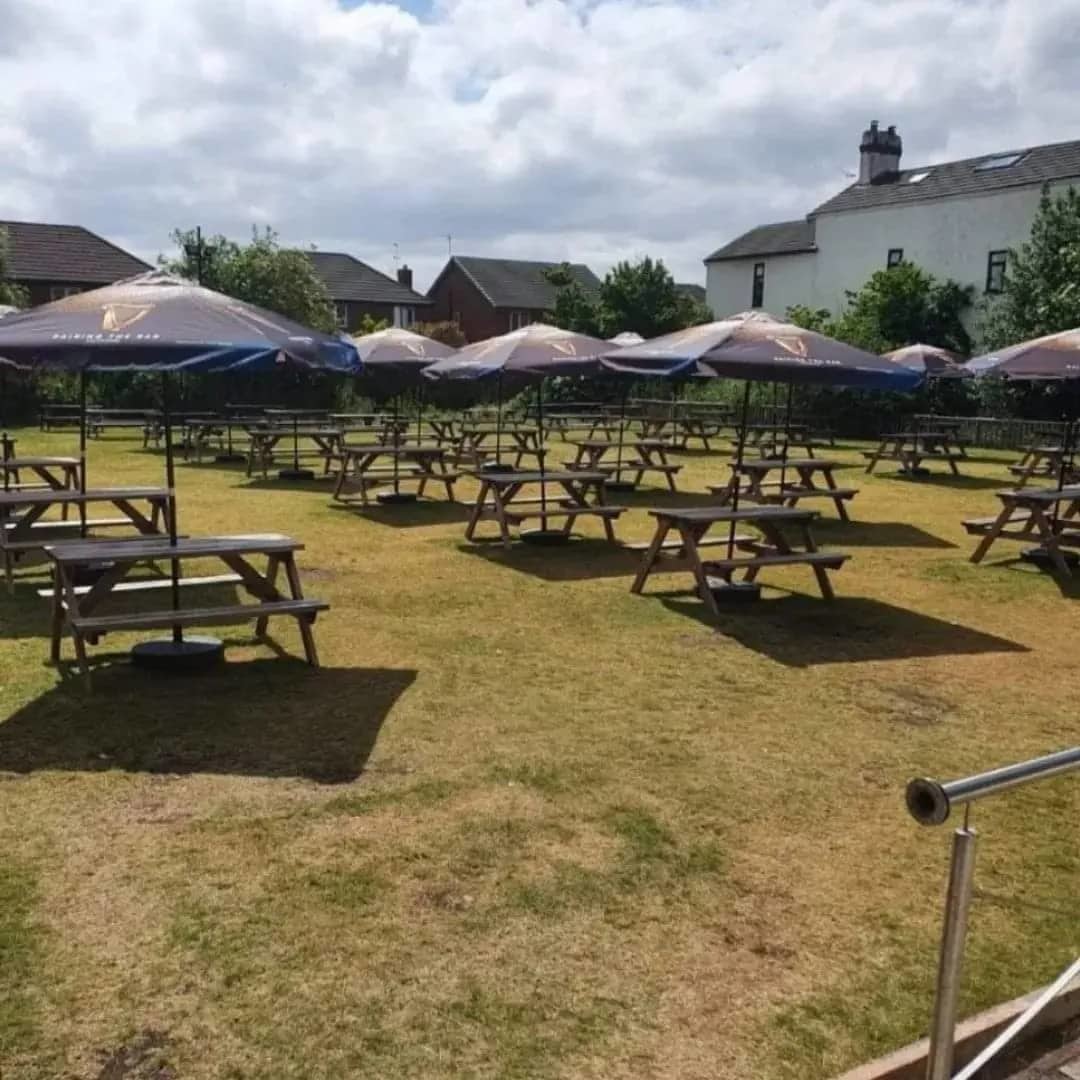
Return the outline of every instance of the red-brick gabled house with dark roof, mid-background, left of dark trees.
[[[554,306],[556,293],[544,274],[561,265],[453,255],[428,289],[433,303],[429,318],[456,322],[468,341],[540,322]],[[588,292],[599,288],[589,267],[577,264],[570,272]]]

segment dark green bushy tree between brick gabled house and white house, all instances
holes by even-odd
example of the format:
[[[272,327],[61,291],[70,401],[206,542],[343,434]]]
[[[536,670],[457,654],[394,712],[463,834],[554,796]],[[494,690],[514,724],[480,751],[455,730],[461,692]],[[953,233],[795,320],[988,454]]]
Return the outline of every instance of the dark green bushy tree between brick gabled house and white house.
[[[632,330],[651,338],[713,318],[703,303],[679,293],[662,260],[648,256],[617,264],[595,295],[584,289],[566,264],[549,271],[548,280],[557,288],[551,313],[555,325],[596,337]]]

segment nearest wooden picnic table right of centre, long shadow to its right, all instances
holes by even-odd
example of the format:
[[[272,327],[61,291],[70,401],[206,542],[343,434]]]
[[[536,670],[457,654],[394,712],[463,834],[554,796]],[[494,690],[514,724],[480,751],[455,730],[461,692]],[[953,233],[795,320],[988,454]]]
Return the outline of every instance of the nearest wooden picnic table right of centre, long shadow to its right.
[[[657,529],[631,592],[640,593],[652,573],[689,571],[693,575],[698,595],[715,618],[719,618],[720,609],[713,590],[730,584],[733,575],[740,570],[744,571],[742,580],[752,582],[770,566],[809,566],[818,579],[822,596],[833,599],[835,594],[827,571],[840,569],[849,557],[838,552],[818,550],[811,532],[818,514],[812,510],[789,507],[740,507],[738,510],[690,507],[650,510],[649,513],[657,519]],[[723,538],[707,537],[714,525],[727,526],[729,532]],[[753,526],[760,537],[737,534],[733,541],[730,540],[731,528],[740,526]],[[784,532],[785,526],[794,526],[799,539],[793,542]],[[678,539],[670,541],[667,537],[673,529]],[[702,548],[718,545],[730,545],[732,553],[726,558],[702,559]]]

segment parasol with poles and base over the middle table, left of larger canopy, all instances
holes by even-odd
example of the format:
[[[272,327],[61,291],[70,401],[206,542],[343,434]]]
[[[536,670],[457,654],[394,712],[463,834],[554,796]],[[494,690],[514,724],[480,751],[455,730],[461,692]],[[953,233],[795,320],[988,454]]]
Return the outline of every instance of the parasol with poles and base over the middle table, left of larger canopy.
[[[576,334],[546,323],[534,323],[521,329],[476,341],[459,349],[444,360],[435,361],[424,370],[429,379],[494,379],[499,394],[498,427],[496,428],[496,461],[500,460],[502,426],[502,391],[519,390],[531,383],[537,387],[537,429],[540,444],[540,473],[544,472],[543,446],[543,380],[550,376],[582,376],[599,370],[599,355],[610,349],[607,341]],[[544,485],[540,485],[541,527],[534,530],[534,540],[555,541],[563,532],[548,532],[542,512],[546,509]]]

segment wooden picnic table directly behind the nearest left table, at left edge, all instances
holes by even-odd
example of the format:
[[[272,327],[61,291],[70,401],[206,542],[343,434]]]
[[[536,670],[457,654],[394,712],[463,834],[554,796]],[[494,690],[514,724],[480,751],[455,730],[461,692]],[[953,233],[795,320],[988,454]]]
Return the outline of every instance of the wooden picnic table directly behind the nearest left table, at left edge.
[[[4,577],[9,591],[15,588],[15,561],[28,552],[44,551],[55,543],[49,532],[78,529],[84,536],[91,528],[132,526],[144,536],[165,531],[168,524],[171,495],[163,487],[102,487],[89,491],[32,490],[0,494],[0,550],[3,551]],[[145,502],[149,513],[136,503]],[[95,503],[108,503],[121,514],[119,517],[90,519],[86,509]],[[50,510],[75,507],[79,516],[75,521],[48,519]],[[95,541],[97,544],[98,541]]]

